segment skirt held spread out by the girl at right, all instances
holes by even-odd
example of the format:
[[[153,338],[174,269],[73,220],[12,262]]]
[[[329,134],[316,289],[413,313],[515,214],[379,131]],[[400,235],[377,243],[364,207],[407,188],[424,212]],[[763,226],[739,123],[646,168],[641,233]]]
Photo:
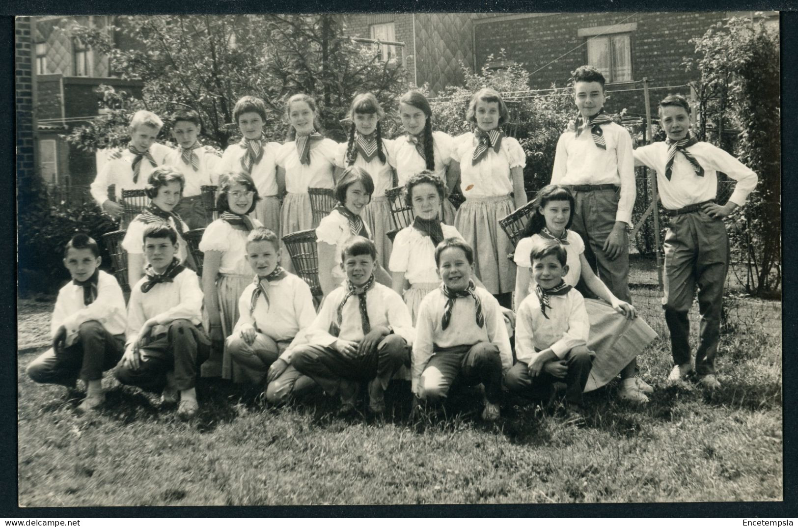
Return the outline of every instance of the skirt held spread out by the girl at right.
[[[587,349],[595,353],[585,391],[610,382],[632,359],[657,338],[657,333],[640,316],[626,319],[602,300],[585,299],[591,334]]]

